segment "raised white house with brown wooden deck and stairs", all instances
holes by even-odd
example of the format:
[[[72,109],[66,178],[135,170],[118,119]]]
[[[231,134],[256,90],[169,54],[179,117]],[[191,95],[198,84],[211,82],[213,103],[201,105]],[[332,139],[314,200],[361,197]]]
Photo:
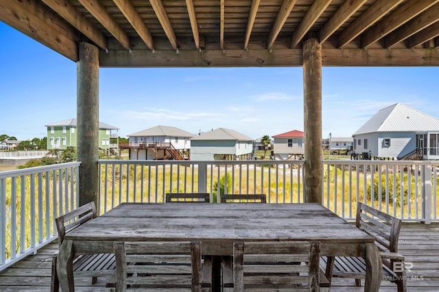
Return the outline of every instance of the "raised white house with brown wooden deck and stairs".
[[[195,135],[176,127],[156,126],[128,135],[130,159],[187,159],[191,149],[189,139]],[[177,151],[178,153],[176,153]]]

